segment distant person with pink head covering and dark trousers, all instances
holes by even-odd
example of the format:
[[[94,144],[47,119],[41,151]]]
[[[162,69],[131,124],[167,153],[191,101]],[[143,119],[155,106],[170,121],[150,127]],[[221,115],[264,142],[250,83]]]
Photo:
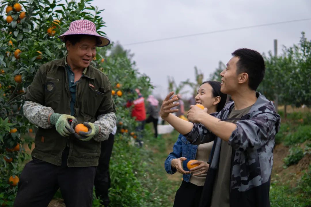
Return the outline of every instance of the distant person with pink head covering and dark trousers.
[[[153,123],[153,127],[155,129],[155,137],[158,137],[158,118],[159,118],[159,101],[153,96],[149,95],[147,98],[147,101],[149,102],[148,108],[147,108],[147,114],[149,114],[148,118],[146,119],[146,123]]]

